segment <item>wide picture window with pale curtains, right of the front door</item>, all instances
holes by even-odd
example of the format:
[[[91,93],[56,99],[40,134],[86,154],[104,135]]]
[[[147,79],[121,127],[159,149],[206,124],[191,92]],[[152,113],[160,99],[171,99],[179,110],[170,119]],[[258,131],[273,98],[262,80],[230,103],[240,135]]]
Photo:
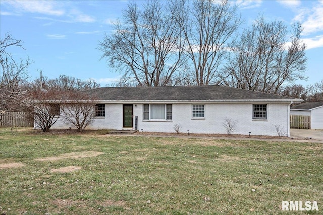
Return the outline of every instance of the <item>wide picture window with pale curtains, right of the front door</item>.
[[[172,120],[172,105],[144,104],[143,120]]]

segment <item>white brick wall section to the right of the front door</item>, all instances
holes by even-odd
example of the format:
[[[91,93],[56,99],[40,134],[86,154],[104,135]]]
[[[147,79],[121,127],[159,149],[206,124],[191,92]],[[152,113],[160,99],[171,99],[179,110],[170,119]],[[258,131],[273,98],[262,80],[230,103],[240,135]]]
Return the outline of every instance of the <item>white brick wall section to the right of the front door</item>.
[[[288,104],[268,104],[267,120],[252,120],[252,104],[205,104],[205,119],[192,119],[192,104],[173,104],[172,122],[142,121],[142,105],[137,105],[138,129],[144,131],[175,132],[173,126],[181,124],[180,132],[226,134],[223,126],[226,117],[237,120],[232,134],[272,135],[274,125],[281,125],[288,134]]]

